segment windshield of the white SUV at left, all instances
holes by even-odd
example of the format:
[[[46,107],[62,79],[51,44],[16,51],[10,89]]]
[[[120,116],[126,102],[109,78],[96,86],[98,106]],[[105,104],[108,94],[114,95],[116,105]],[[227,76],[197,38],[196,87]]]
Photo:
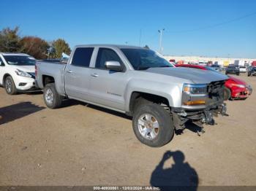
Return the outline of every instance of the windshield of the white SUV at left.
[[[4,55],[5,61],[10,65],[34,66],[36,60],[28,55]]]

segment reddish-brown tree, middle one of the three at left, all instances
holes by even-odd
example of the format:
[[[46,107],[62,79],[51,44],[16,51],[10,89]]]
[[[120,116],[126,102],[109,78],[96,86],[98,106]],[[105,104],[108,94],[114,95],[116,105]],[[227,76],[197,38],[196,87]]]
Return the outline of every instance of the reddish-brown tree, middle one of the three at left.
[[[48,58],[48,42],[36,36],[24,36],[20,39],[20,52],[34,56],[37,59]]]

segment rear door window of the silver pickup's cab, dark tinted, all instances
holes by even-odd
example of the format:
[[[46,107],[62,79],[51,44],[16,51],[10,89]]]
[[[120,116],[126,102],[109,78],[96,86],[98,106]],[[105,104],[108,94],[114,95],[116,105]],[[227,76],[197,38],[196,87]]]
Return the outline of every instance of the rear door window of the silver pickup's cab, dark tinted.
[[[89,67],[91,55],[94,52],[93,47],[78,47],[72,58],[72,65]]]

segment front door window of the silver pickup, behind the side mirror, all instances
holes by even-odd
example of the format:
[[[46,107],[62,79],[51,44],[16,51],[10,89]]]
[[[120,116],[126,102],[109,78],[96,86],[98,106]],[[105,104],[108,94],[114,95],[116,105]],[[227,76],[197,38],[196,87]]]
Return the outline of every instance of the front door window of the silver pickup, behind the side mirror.
[[[119,63],[122,63],[121,59],[114,50],[109,48],[99,48],[95,68],[106,69],[106,61],[118,61]]]

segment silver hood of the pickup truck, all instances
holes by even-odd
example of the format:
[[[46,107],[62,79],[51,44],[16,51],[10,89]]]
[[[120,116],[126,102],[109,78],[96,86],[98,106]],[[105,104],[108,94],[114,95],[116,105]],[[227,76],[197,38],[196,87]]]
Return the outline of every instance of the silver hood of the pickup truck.
[[[224,74],[219,72],[200,70],[200,69],[187,69],[187,68],[150,68],[146,72],[154,74],[162,74],[170,77],[177,77],[180,79],[189,79],[195,84],[208,84],[220,80],[228,79]]]

